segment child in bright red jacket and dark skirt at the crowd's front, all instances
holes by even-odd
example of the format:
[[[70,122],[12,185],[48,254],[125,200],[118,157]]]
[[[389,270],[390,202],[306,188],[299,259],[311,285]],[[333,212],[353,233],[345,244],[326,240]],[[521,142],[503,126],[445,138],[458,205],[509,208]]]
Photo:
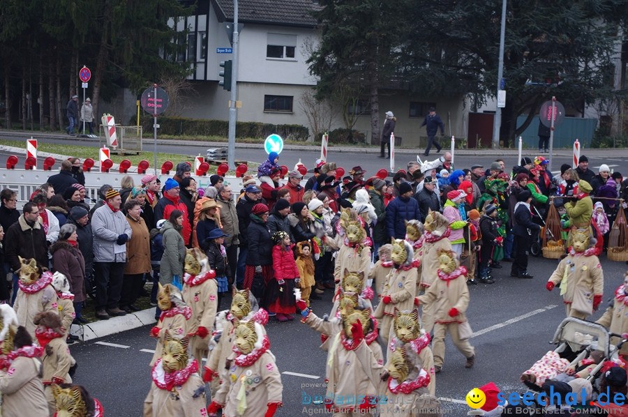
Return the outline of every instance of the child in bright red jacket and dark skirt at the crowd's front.
[[[267,284],[266,296],[268,308],[276,312],[279,321],[294,320],[292,315],[297,311],[297,299],[294,298],[294,285],[300,284],[299,268],[294,261],[290,235],[286,232],[275,232],[273,236],[273,269],[275,279]]]

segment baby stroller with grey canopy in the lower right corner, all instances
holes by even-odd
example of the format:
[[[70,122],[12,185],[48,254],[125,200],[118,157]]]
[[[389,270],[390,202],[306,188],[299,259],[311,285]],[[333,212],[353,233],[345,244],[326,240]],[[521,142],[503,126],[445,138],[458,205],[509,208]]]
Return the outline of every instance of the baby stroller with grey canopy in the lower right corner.
[[[620,338],[620,343],[616,346],[611,344],[612,337]],[[565,365],[568,363],[569,367],[576,367],[580,361],[588,358],[593,351],[601,352],[601,361],[599,361],[597,365],[591,365],[588,377],[586,377],[586,379],[588,379],[593,386],[593,395],[597,397],[599,394],[598,380],[601,376],[601,370],[602,367],[604,367],[604,362],[613,361],[615,363],[620,363],[621,360],[619,357],[619,351],[622,344],[626,341],[627,340],[623,339],[621,335],[610,333],[600,324],[593,323],[592,321],[576,319],[574,317],[567,317],[567,319],[564,319],[560,323],[554,333],[553,340],[550,342],[551,344],[558,346],[553,350],[553,352],[548,352],[548,354],[550,354],[550,356],[551,354],[558,354],[556,357],[560,358],[562,363]],[[548,356],[548,354],[546,354],[546,356]],[[544,356],[544,358],[546,356]],[[532,368],[534,368],[534,366]],[[555,374],[553,377],[548,377],[547,380],[555,379],[557,377],[558,374]],[[525,393],[532,393],[535,399],[534,404],[528,407],[529,414],[542,416],[543,407],[541,407],[541,405],[539,405],[536,401],[537,393],[543,391],[540,386],[541,384],[539,384],[541,381],[530,381],[524,379],[523,375],[522,381],[528,388]]]

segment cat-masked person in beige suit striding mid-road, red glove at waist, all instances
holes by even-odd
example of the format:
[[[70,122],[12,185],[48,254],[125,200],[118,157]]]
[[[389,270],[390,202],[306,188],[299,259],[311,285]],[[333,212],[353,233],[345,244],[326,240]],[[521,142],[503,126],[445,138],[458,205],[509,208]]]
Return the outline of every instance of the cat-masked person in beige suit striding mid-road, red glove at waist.
[[[426,293],[419,296],[419,303],[432,304],[434,314],[434,369],[438,374],[444,363],[444,338],[449,332],[451,341],[458,351],[467,358],[465,367],[472,367],[475,363],[475,350],[469,343],[469,334],[461,335],[461,326],[468,327],[465,311],[469,306],[469,289],[466,284],[467,270],[458,266],[455,252],[440,250],[438,255],[438,278],[428,288]],[[470,329],[470,327],[469,327]]]

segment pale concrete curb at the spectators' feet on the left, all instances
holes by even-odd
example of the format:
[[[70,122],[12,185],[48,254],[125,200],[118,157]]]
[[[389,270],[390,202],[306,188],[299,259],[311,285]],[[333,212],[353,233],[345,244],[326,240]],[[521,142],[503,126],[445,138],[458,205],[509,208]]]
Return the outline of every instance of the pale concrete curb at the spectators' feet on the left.
[[[111,317],[108,320],[94,321],[94,323],[73,324],[70,327],[70,333],[77,335],[82,342],[87,342],[156,322],[155,308],[148,308],[120,317]]]

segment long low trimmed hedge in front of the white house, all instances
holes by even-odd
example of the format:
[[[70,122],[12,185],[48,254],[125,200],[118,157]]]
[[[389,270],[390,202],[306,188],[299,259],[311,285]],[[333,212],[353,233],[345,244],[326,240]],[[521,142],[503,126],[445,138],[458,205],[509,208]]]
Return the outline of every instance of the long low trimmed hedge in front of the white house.
[[[140,119],[144,132],[151,131],[154,119],[143,116]],[[130,120],[135,123],[135,118]],[[225,120],[186,119],[184,117],[159,117],[159,133],[174,136],[222,136],[229,132],[229,122]],[[253,137],[266,139],[276,133],[285,140],[305,142],[309,136],[309,130],[301,125],[274,125],[255,121],[239,121],[236,123],[236,137]]]

